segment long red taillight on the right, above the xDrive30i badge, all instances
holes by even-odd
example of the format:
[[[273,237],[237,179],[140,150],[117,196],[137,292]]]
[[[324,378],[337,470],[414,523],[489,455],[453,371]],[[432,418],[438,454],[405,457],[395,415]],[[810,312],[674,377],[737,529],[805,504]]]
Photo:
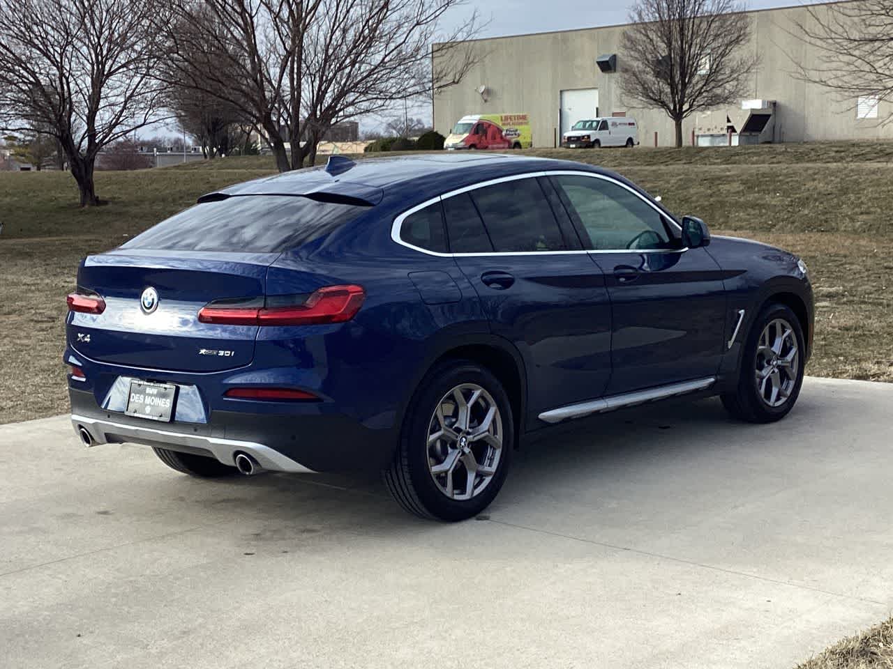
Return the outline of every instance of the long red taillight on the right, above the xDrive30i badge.
[[[362,285],[328,285],[296,304],[266,303],[242,306],[232,301],[218,301],[202,307],[198,320],[231,326],[310,326],[322,323],[344,323],[354,318],[363,306],[366,292]]]

